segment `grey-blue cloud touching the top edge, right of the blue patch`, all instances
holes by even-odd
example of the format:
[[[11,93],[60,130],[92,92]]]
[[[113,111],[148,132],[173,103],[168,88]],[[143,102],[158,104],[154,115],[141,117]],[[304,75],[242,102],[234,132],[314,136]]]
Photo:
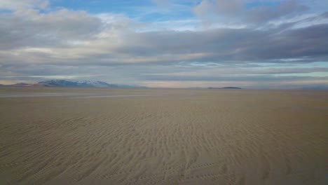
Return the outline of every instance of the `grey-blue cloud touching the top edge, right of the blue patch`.
[[[257,6],[250,6],[257,4]],[[193,9],[205,22],[240,22],[259,25],[287,15],[308,10],[296,0],[282,1],[278,5],[260,4],[258,1],[242,0],[203,0]]]

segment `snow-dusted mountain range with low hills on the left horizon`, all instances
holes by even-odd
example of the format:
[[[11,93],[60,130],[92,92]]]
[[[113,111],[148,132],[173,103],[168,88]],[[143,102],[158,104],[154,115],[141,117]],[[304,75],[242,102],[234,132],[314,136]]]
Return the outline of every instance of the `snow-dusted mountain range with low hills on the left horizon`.
[[[1,86],[1,85],[0,85]],[[50,80],[39,83],[16,83],[6,87],[66,87],[66,88],[146,88],[138,85],[111,84],[103,81]]]

